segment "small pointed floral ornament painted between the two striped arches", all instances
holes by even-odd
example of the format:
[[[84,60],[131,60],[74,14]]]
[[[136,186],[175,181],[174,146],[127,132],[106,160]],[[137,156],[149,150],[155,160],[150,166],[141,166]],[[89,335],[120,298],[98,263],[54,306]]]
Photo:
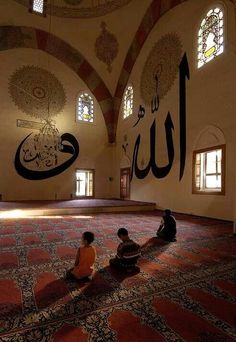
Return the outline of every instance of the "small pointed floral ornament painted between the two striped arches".
[[[118,54],[119,44],[114,36],[106,29],[106,23],[101,23],[102,32],[95,42],[95,54],[97,58],[107,65],[107,70],[112,71],[111,64]]]

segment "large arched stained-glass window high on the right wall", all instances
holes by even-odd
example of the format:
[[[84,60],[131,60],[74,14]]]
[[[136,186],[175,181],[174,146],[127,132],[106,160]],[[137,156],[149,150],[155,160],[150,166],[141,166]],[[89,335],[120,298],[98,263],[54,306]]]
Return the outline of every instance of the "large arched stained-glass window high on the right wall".
[[[211,9],[198,31],[198,68],[224,51],[224,15],[222,9]]]

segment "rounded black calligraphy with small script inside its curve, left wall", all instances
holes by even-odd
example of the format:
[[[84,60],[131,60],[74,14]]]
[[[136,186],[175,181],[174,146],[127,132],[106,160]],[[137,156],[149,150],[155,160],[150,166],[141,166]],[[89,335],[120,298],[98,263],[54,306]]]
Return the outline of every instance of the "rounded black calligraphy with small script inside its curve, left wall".
[[[30,142],[31,134],[20,143],[15,155],[15,169],[26,179],[54,177],[70,167],[79,155],[79,143],[70,133],[62,134],[60,150],[56,153],[57,143],[47,143],[45,140],[43,146],[38,148],[36,141],[35,144]]]

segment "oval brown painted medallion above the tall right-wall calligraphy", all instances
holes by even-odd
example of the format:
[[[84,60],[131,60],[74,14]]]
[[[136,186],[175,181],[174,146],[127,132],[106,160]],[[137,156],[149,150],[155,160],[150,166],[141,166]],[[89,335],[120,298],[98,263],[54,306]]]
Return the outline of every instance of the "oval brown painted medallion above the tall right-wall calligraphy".
[[[163,36],[152,48],[141,75],[140,92],[146,104],[157,94],[163,98],[174,83],[182,57],[181,41],[177,34]]]

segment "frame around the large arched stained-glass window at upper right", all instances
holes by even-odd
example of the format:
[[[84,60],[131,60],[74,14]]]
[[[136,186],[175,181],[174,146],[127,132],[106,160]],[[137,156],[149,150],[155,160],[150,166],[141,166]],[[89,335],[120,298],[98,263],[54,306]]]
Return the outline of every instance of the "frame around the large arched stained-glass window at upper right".
[[[204,64],[202,64],[201,66],[198,66],[199,63],[199,30],[201,29],[201,25],[202,25],[202,21],[204,19],[206,19],[207,17],[207,13],[210,10],[214,10],[215,8],[219,8],[220,11],[222,11],[223,13],[223,51],[219,54],[216,55],[214,58],[212,58],[211,60],[205,62]],[[217,3],[213,3],[210,6],[208,6],[207,8],[205,8],[204,14],[201,16],[201,19],[198,21],[198,26],[196,29],[196,53],[195,53],[195,61],[196,61],[196,69],[197,70],[201,70],[202,68],[204,68],[206,65],[211,64],[210,62],[213,62],[214,60],[218,60],[218,58],[220,58],[220,56],[224,55],[225,50],[226,50],[226,45],[227,45],[227,13],[226,13],[226,6],[223,2],[218,1]],[[218,58],[217,58],[218,57]]]

